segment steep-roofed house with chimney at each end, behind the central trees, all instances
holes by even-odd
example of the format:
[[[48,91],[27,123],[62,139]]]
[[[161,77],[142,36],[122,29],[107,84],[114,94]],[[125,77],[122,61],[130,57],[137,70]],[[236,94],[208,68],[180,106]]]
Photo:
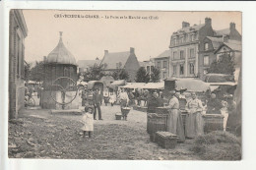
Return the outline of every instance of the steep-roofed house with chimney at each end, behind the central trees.
[[[135,81],[136,73],[140,68],[134,48],[132,47],[130,51],[126,52],[109,53],[108,50],[105,50],[100,64],[104,65],[104,71],[108,74],[124,69],[129,74],[129,81],[131,82]]]

